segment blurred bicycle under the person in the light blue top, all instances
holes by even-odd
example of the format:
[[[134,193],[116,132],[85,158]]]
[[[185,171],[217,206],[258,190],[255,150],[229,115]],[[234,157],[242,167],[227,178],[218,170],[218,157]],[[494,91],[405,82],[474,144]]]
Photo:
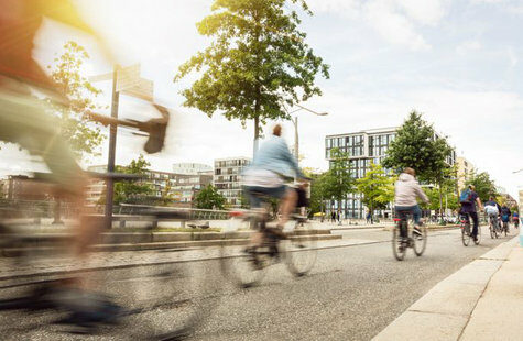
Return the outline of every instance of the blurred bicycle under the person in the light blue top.
[[[268,204],[268,197],[259,196]],[[308,274],[316,263],[317,235],[307,217],[293,215],[283,231],[268,227],[269,209],[230,212],[229,230],[221,248],[221,268],[229,279],[243,288],[259,284],[269,266],[283,261],[295,277]],[[262,233],[259,245],[230,248],[238,244],[241,230],[257,229]],[[282,233],[283,232],[283,233]]]

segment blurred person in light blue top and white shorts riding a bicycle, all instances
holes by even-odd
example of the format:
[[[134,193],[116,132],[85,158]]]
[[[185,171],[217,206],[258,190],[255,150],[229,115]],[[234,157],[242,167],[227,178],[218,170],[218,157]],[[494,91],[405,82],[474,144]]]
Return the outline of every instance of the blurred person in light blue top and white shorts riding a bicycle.
[[[243,172],[242,183],[249,196],[251,208],[261,207],[261,196],[280,199],[282,213],[273,232],[281,234],[288,217],[294,212],[297,201],[295,189],[285,186],[285,179],[304,179],[296,160],[291,154],[282,135],[282,127],[274,125],[272,136],[268,139],[254,155],[252,164]],[[253,243],[259,243],[261,234],[255,234]]]

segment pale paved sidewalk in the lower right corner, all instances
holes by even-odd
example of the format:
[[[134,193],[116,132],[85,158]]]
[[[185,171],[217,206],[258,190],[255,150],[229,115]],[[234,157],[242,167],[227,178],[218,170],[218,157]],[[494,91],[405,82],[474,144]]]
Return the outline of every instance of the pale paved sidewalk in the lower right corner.
[[[433,287],[373,340],[523,340],[523,248],[512,238]]]

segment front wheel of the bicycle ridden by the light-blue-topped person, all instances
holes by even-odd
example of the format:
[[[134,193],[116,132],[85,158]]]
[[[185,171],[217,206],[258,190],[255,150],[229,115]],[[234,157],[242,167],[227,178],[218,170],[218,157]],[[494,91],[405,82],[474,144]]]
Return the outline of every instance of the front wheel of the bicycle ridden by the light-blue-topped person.
[[[294,229],[287,240],[281,242],[288,271],[296,277],[306,275],[316,263],[317,234],[313,224],[306,220],[294,220]]]

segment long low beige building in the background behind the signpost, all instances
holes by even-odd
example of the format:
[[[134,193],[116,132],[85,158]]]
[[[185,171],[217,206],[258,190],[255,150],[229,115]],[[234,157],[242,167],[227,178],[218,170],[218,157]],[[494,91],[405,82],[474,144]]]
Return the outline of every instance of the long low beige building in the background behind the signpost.
[[[88,167],[91,172],[105,172],[107,166]],[[197,193],[213,183],[213,175],[207,174],[176,174],[160,170],[145,170],[142,183],[153,188],[153,197],[168,196],[174,206],[190,207]],[[103,196],[106,184],[103,180],[91,180],[87,189],[87,202],[96,206]]]

